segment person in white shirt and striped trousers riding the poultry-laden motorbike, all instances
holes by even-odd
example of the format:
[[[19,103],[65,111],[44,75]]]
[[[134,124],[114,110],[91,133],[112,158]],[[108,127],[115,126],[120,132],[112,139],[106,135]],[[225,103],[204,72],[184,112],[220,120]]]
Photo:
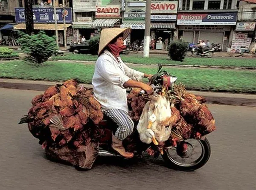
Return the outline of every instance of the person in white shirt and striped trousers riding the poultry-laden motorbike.
[[[140,82],[143,78],[150,79],[152,75],[129,68],[119,57],[119,53],[125,48],[123,40],[130,33],[131,29],[102,30],[99,58],[92,79],[94,98],[101,104],[103,113],[116,124],[112,131],[111,147],[126,158],[134,156],[122,146],[122,141],[134,129],[134,122],[128,115],[126,88],[138,87],[148,94],[153,92],[151,86]]]

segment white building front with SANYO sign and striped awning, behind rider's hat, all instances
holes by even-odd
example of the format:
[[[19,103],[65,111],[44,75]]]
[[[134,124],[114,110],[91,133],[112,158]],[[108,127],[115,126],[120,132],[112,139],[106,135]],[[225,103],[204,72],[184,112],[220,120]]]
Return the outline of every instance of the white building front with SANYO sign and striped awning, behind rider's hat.
[[[119,0],[73,0],[73,14],[74,41],[83,36],[90,39],[104,28],[120,27]]]

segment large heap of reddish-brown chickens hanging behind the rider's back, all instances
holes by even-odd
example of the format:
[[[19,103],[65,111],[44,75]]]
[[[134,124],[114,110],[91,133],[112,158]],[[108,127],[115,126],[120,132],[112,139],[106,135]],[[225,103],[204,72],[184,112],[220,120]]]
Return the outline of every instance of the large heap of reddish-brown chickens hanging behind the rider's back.
[[[35,96],[20,124],[28,123],[29,131],[51,158],[90,168],[104,132],[97,125],[102,118],[93,90],[72,79]]]

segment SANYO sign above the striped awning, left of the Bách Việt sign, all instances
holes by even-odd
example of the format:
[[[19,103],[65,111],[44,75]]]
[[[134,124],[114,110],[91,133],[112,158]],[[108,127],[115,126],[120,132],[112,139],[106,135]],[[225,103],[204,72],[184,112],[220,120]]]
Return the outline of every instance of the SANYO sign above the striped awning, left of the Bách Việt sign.
[[[96,6],[96,18],[106,18],[106,17],[121,17],[120,6]]]

